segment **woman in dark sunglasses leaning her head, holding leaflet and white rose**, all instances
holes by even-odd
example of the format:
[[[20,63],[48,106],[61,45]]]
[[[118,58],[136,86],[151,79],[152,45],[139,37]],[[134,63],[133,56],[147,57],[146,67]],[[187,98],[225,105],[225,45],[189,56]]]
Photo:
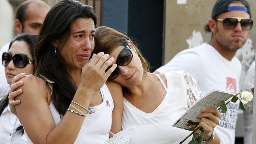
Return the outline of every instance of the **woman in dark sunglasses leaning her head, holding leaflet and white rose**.
[[[117,68],[108,80],[122,85],[122,128],[136,125],[130,144],[176,144],[190,133],[172,127],[172,124],[202,96],[191,75],[184,71],[150,73],[148,62],[134,42],[119,31],[104,26],[96,28],[95,32],[93,53],[98,52],[115,58]],[[204,109],[198,118],[201,118],[199,125],[206,133],[204,140],[209,140],[213,128],[219,123],[220,113],[217,109]],[[217,135],[209,143],[218,144]]]

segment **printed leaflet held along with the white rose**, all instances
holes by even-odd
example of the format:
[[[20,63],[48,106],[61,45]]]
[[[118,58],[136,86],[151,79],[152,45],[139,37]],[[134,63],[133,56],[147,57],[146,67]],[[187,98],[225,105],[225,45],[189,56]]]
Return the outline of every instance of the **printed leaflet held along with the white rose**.
[[[192,105],[186,111],[186,113],[184,113],[173,124],[173,126],[193,131],[193,129],[195,129],[200,122],[200,120],[197,118],[197,114],[202,113],[202,109],[210,107],[217,108],[221,105],[221,102],[228,100],[232,96],[234,96],[234,94],[230,92],[224,92],[215,89],[211,90],[211,92],[206,94],[206,96],[202,97],[194,105]]]

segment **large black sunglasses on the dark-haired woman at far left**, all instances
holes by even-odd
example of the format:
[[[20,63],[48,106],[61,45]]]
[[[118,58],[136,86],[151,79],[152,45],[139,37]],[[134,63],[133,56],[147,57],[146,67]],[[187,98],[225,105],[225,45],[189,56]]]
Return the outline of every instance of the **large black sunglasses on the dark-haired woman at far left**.
[[[30,59],[26,54],[15,54],[13,57],[11,57],[11,53],[4,52],[2,55],[3,66],[7,66],[11,60],[13,60],[13,64],[17,68],[24,68],[26,65],[28,65],[28,63],[33,63],[33,59]]]

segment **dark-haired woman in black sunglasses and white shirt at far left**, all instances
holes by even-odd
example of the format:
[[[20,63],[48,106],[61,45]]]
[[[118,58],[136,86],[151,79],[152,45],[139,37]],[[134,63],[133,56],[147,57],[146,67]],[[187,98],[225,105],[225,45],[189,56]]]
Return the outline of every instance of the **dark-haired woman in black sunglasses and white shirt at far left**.
[[[9,45],[8,52],[2,55],[2,65],[5,66],[7,83],[11,84],[13,77],[22,73],[23,75],[34,74],[34,51],[37,35],[20,34]],[[0,106],[0,144],[27,144],[23,127],[19,119],[8,109],[8,94],[1,100]]]

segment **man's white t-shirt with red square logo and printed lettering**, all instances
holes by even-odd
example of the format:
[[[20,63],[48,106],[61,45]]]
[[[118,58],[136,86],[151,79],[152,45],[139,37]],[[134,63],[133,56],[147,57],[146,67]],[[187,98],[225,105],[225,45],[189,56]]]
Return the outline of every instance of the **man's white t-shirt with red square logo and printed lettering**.
[[[191,74],[204,95],[212,89],[235,94],[240,90],[239,78],[242,70],[240,61],[236,57],[228,61],[210,44],[183,50],[156,71],[163,73],[174,70],[184,70]],[[239,101],[229,103],[227,108],[226,113],[221,113],[215,131],[221,139],[221,144],[234,144]]]

